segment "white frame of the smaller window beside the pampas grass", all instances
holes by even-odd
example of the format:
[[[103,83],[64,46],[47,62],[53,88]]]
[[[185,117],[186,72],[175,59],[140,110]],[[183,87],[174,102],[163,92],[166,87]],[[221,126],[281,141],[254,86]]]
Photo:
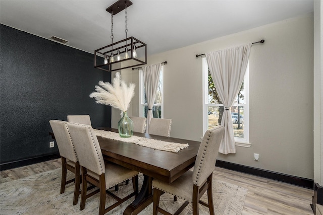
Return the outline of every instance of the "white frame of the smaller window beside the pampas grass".
[[[163,80],[163,87],[161,88],[161,101],[163,101],[163,103],[159,104],[153,104],[153,106],[160,106],[161,108],[161,114],[160,117],[161,119],[164,118],[164,66],[162,65],[160,67],[160,77]],[[145,117],[143,110],[145,108],[145,106],[148,106],[147,103],[144,103],[144,99],[145,99],[145,91],[144,91],[144,83],[143,83],[143,70],[140,68],[139,69],[139,116],[140,117]]]

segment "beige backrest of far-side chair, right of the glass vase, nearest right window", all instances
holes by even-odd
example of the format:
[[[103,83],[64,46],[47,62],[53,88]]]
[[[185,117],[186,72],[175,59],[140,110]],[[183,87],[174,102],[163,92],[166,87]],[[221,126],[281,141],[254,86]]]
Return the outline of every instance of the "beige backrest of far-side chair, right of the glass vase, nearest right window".
[[[148,133],[159,136],[170,136],[172,119],[151,118]]]

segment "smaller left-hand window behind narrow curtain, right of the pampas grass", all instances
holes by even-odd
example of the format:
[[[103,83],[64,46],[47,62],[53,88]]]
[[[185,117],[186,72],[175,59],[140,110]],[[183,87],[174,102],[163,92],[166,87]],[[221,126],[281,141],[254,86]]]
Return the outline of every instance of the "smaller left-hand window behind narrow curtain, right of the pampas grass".
[[[148,112],[148,105],[147,105],[147,98],[146,98],[146,93],[145,93],[145,87],[143,83],[143,71],[140,69],[139,71],[139,87],[140,87],[140,114],[139,116],[141,117],[147,117],[147,112]],[[164,105],[163,105],[163,87],[164,87],[164,80],[163,76],[164,75],[164,66],[161,66],[160,68],[160,74],[159,74],[159,82],[158,82],[158,88],[156,92],[156,97],[155,101],[152,107],[152,114],[154,118],[164,118]]]

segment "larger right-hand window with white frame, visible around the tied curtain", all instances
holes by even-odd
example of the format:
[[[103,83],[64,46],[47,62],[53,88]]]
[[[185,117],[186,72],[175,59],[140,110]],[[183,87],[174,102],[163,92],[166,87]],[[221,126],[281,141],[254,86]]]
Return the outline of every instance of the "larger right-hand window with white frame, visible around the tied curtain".
[[[209,73],[206,58],[203,58],[203,132],[221,124],[223,111],[224,106],[218,96],[212,77]],[[250,147],[249,65],[247,66],[239,94],[230,111],[236,145]]]

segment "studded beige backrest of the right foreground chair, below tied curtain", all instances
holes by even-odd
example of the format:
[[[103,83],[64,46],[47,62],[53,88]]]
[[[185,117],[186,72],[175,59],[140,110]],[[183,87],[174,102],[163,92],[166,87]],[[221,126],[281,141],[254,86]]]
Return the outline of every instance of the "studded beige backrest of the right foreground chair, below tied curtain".
[[[205,132],[195,160],[192,176],[193,184],[201,186],[213,172],[223,133],[223,125],[211,128]]]

